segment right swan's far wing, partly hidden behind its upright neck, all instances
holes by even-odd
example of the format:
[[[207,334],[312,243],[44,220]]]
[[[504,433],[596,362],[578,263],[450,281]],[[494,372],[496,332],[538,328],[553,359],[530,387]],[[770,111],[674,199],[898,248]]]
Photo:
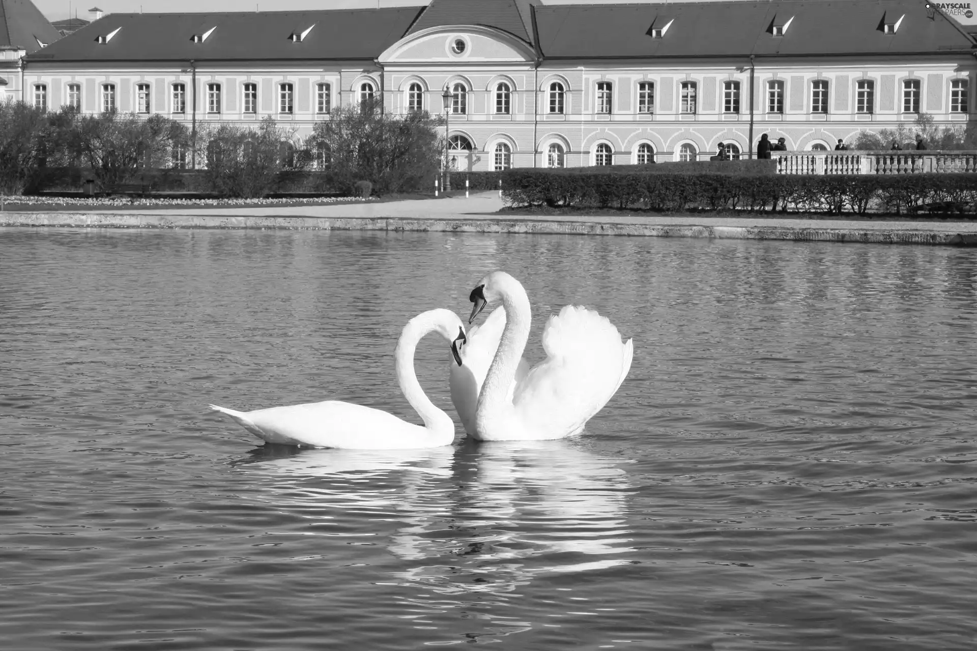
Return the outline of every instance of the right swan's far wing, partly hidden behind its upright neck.
[[[488,367],[492,357],[502,339],[505,328],[505,309],[496,307],[481,326],[471,326],[465,333],[465,343],[461,347],[461,363],[450,364],[448,371],[448,385],[451,389],[451,402],[458,412],[461,425],[469,436],[475,435],[475,409],[479,402],[479,393],[488,375]],[[512,399],[516,385],[520,383],[530,371],[530,364],[520,357],[516,368],[515,381],[509,385],[509,399]]]

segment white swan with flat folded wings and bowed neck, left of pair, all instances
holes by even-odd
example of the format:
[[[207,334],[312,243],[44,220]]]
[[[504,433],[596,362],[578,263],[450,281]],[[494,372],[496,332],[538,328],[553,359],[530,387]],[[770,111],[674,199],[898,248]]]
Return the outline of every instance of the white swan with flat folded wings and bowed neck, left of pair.
[[[454,439],[454,422],[424,394],[414,374],[414,349],[421,338],[431,332],[437,332],[451,342],[454,359],[460,364],[458,345],[465,341],[465,329],[458,315],[449,309],[432,309],[410,319],[394,352],[397,380],[407,402],[424,421],[423,427],[379,409],[339,400],[250,412],[217,405],[210,405],[210,408],[227,414],[269,443],[355,450],[449,445]]]

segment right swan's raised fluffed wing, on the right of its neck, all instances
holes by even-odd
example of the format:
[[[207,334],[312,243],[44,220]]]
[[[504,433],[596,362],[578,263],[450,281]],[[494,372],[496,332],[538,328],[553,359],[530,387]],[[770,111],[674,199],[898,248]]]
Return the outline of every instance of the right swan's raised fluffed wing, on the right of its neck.
[[[520,382],[513,405],[536,431],[578,431],[615,394],[633,347],[596,311],[566,305],[542,335],[546,359]]]

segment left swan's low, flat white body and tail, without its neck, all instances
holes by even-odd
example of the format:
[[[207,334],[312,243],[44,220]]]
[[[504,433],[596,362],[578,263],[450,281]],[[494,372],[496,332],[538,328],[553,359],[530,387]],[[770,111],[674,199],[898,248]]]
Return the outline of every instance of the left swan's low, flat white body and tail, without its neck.
[[[234,414],[219,411],[269,443],[361,450],[425,447],[424,427],[352,402],[325,400]]]

